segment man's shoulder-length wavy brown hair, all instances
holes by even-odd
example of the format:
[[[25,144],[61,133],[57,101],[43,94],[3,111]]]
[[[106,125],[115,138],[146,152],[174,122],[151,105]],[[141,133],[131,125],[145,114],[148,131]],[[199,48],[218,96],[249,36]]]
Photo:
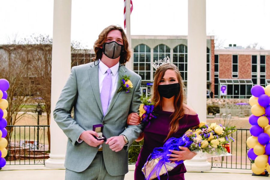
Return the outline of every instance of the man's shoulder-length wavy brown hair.
[[[94,60],[96,61],[98,59],[101,59],[103,52],[100,46],[102,46],[105,43],[108,33],[112,30],[119,30],[122,33],[124,47],[123,47],[123,52],[121,53],[119,62],[120,64],[125,64],[131,58],[131,50],[128,47],[128,39],[124,32],[124,29],[121,26],[115,26],[115,25],[111,25],[103,29],[103,31],[98,36],[98,39],[94,43],[94,51],[95,51]]]

